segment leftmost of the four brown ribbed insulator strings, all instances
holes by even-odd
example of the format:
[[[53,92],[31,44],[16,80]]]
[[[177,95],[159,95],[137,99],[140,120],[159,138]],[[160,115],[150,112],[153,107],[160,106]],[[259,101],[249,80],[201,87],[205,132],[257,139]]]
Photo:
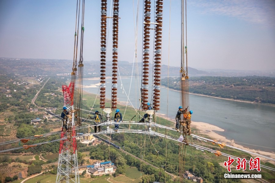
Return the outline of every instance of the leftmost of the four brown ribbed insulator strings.
[[[107,0],[101,0],[101,63],[100,63],[100,108],[105,108],[105,69],[106,69],[106,27],[107,27]]]

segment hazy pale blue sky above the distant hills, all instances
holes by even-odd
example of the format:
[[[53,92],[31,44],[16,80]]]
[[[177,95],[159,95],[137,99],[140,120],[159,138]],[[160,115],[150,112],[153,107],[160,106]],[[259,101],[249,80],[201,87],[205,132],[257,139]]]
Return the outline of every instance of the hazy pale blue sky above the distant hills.
[[[112,3],[107,1],[110,16]],[[0,57],[73,60],[76,2],[1,0]],[[120,0],[119,60],[134,61],[138,28],[136,60],[142,61],[143,2]],[[180,66],[180,7],[180,0],[163,0],[162,64],[165,65]],[[100,11],[100,0],[86,0],[84,66],[86,61],[100,60]],[[107,60],[111,60],[112,25],[107,29],[110,30]],[[274,70],[275,1],[187,1],[187,47],[188,66],[196,69]],[[152,57],[153,50],[150,54]]]

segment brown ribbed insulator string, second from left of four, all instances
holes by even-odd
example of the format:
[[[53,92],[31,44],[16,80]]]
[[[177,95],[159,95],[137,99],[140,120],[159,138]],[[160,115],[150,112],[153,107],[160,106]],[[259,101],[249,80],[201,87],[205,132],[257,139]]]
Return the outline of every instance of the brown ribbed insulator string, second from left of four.
[[[117,105],[117,68],[118,68],[118,30],[119,30],[119,0],[114,0],[113,7],[113,61],[112,61],[112,101],[111,108]]]

